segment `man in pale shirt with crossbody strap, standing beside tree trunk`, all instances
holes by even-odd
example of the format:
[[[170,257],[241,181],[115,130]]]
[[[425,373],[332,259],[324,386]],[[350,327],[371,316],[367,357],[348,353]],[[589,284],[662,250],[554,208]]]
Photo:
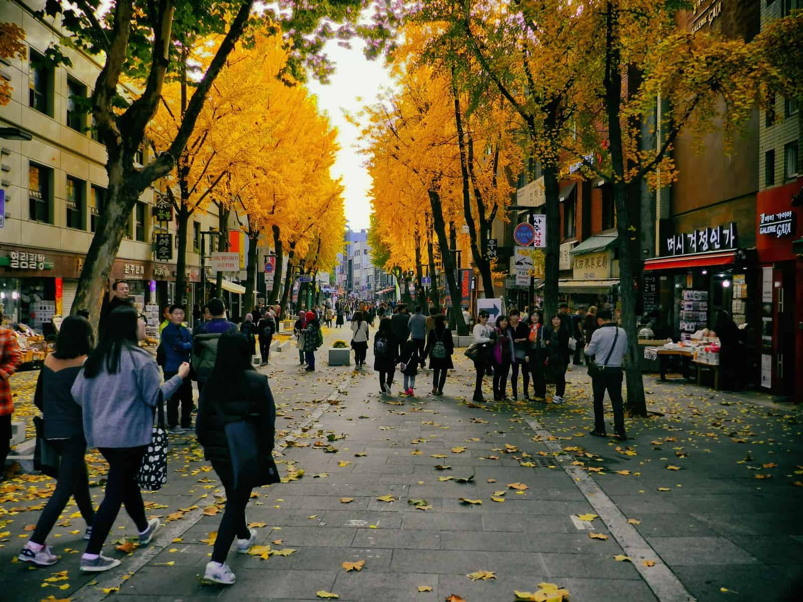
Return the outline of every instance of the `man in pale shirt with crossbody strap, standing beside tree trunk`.
[[[599,369],[598,376],[591,380],[594,392],[594,429],[592,435],[605,437],[605,410],[602,400],[605,391],[613,406],[613,433],[624,440],[625,413],[622,409],[622,358],[627,351],[627,333],[611,320],[613,315],[609,309],[597,311],[599,328],[594,331],[589,344],[585,346],[585,355],[593,356]]]

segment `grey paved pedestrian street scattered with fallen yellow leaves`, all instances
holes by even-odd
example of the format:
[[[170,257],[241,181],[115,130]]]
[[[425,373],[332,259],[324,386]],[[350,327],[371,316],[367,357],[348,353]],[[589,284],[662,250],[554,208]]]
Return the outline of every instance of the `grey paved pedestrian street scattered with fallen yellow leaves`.
[[[311,374],[294,348],[261,368],[287,482],[252,494],[259,537],[250,554],[229,556],[236,584],[199,581],[222,488],[190,433],[171,439],[168,485],[145,494],[163,522],[154,543],[126,544],[136,530],[121,512],[104,550],[123,563],[107,573],[78,571],[74,505],[48,539],[59,563],[15,562],[53,481],[3,483],[0,599],[501,602],[551,600],[537,594],[548,584],[573,602],[798,599],[797,407],[646,376],[655,413],[628,420],[630,440],[617,443],[589,436],[585,368],[569,372],[563,405],[477,407],[462,354],[443,397],[429,393],[429,371],[416,397],[402,397],[398,380],[380,397],[372,369],[330,368],[320,356]],[[88,458],[102,482],[99,455]],[[100,502],[102,488],[92,493]]]

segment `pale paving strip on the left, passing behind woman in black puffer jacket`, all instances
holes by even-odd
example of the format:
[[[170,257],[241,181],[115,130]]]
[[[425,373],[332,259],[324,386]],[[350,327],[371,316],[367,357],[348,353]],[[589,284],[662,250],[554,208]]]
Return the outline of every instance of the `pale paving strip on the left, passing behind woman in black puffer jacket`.
[[[345,385],[348,383],[348,380],[349,377],[347,376],[340,382],[340,384],[336,384],[332,393],[329,393],[328,397],[324,397],[324,399],[319,402],[320,408],[317,408],[314,412],[312,412],[312,415],[308,417],[308,419],[305,420],[304,423],[297,429],[288,434],[287,437],[283,437],[283,439],[277,441],[274,449],[281,448],[282,451],[284,451],[287,449],[287,441],[296,441],[296,439],[300,437],[301,433],[303,433],[303,429],[306,429],[309,425],[312,425],[324,414],[324,412],[326,412],[326,409],[329,406],[329,401],[334,401],[336,397],[340,395],[341,389],[345,387]],[[125,581],[134,576],[134,574],[136,574],[137,571],[139,571],[142,567],[145,567],[151,561],[151,559],[153,559],[161,551],[165,550],[165,548],[169,546],[173,539],[181,537],[181,535],[187,531],[190,531],[192,527],[198,524],[198,521],[200,521],[204,516],[203,510],[214,504],[214,495],[208,496],[206,499],[198,500],[198,502],[195,503],[198,504],[198,508],[196,510],[192,510],[192,515],[187,516],[187,518],[182,520],[181,523],[176,522],[175,527],[162,527],[160,539],[164,540],[165,543],[163,545],[151,545],[145,548],[143,553],[133,556],[128,563],[124,564],[123,568],[125,571],[122,574],[107,575],[106,579],[104,579],[102,577],[104,573],[98,573],[98,576],[95,579],[97,581],[96,584],[84,585],[84,587],[73,592],[71,598],[74,600],[80,600],[81,602],[101,602],[108,596],[112,596],[112,594],[122,587]],[[117,590],[107,594],[104,593],[104,588],[117,588]]]

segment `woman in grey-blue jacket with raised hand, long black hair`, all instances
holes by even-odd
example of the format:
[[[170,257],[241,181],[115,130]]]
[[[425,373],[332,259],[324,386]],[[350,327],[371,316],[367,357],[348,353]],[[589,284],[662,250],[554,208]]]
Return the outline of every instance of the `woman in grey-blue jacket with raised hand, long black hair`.
[[[145,518],[137,472],[153,441],[154,409],[190,376],[190,364],[182,363],[176,376],[160,386],[156,360],[137,346],[145,339],[145,324],[145,316],[137,315],[133,307],[113,310],[106,336],[89,354],[71,388],[75,403],[84,410],[87,445],[98,448],[108,461],[106,493],[92,523],[81,571],[108,571],[120,564],[100,553],[120,505],[137,525],[141,547],[150,543],[160,525],[159,519]]]

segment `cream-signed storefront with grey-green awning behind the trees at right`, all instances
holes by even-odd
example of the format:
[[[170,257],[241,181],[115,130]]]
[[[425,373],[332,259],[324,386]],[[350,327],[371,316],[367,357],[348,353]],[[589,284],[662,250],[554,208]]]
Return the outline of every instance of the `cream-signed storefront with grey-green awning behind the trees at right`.
[[[569,307],[580,305],[615,309],[618,303],[618,238],[592,236],[564,252],[560,247],[560,269],[572,270],[571,279],[560,279],[560,299]],[[566,255],[566,257],[565,257]]]

